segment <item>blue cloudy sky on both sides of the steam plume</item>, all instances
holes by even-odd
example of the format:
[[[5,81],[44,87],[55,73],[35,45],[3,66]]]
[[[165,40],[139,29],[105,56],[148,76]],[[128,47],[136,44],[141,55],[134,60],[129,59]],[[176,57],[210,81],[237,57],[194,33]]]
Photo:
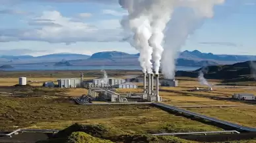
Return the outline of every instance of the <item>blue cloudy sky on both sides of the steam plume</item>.
[[[124,34],[119,20],[126,11],[115,0],[106,4],[86,0],[38,1],[0,1],[0,55],[91,55],[113,50],[138,53],[129,43],[120,42]],[[205,20],[181,51],[256,55],[255,2],[226,0],[224,5],[216,6],[214,18]]]

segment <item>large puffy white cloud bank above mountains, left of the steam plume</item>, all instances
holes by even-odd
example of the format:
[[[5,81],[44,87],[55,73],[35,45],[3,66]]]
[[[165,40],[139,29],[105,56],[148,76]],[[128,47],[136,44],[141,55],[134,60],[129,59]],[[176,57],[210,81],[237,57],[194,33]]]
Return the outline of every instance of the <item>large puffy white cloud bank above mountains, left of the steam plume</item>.
[[[121,28],[117,28],[116,21],[98,21],[94,24],[74,21],[65,17],[58,11],[45,11],[42,16],[33,18],[28,24],[39,28],[27,30],[0,30],[4,37],[1,42],[8,40],[30,40],[49,43],[73,43],[73,42],[115,42],[122,38]],[[115,24],[113,24],[115,23]],[[103,26],[110,24],[108,26]],[[7,37],[7,38],[5,38]],[[3,39],[3,38],[2,38]]]

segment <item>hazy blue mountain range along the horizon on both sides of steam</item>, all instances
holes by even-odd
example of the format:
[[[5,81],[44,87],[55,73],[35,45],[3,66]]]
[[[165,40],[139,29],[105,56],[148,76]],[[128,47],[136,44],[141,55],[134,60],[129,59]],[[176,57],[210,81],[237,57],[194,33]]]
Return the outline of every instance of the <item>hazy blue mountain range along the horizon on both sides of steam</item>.
[[[31,55],[2,55],[0,65],[55,65],[65,61],[65,65],[73,66],[137,66],[139,65],[139,53],[129,54],[121,51],[103,51],[93,55],[82,55],[75,53],[55,53],[34,57]],[[179,53],[176,61],[178,66],[201,67],[205,65],[233,64],[243,61],[256,60],[256,56],[249,55],[214,55],[202,53],[201,51],[183,51]],[[57,64],[61,65],[61,64]]]

